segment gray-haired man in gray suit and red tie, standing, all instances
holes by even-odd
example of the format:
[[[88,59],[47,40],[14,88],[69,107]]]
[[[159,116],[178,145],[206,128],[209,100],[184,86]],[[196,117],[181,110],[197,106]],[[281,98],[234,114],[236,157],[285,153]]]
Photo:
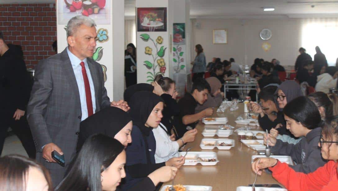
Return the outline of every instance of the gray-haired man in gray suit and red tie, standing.
[[[54,187],[75,156],[80,122],[109,106],[129,110],[123,100],[110,102],[101,65],[91,59],[96,47],[95,26],[89,17],[71,18],[67,24],[68,47],[41,60],[35,68],[27,119],[37,161],[49,169]],[[65,167],[51,157],[54,150],[64,154]]]

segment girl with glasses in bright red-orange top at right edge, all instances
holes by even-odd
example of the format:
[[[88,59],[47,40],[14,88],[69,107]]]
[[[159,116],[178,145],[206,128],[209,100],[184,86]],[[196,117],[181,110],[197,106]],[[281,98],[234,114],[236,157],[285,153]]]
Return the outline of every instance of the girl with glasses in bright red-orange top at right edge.
[[[286,163],[274,158],[260,158],[252,163],[252,170],[262,174],[260,169],[269,168],[272,176],[288,190],[297,191],[333,191],[338,188],[338,116],[325,121],[317,146],[321,148],[321,156],[328,160],[324,166],[312,173],[296,172]]]

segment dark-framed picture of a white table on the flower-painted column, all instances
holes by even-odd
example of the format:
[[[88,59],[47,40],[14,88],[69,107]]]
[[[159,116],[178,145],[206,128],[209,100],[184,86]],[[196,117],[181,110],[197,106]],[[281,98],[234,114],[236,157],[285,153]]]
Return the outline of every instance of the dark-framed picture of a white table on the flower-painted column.
[[[137,31],[167,31],[167,7],[137,8]]]

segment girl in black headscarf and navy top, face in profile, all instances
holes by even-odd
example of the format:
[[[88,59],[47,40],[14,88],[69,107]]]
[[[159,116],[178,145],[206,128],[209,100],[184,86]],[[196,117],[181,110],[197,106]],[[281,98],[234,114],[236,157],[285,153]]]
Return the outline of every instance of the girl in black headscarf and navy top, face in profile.
[[[167,162],[155,164],[156,141],[152,129],[159,126],[163,117],[164,103],[161,97],[149,91],[139,91],[131,97],[129,105],[134,126],[131,132],[132,144],[126,148],[126,178],[121,186],[123,190],[129,189],[160,167],[174,165],[179,168],[185,161],[183,157],[174,157]],[[161,184],[156,190],[160,187]]]

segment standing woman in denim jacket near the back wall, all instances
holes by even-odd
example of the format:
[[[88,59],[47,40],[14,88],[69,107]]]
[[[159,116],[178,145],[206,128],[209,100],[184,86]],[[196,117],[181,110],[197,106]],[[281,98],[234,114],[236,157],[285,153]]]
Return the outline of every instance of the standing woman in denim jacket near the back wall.
[[[197,78],[203,78],[207,67],[206,56],[204,55],[203,48],[200,44],[197,44],[195,46],[195,51],[197,52],[197,55],[195,57],[195,60],[191,62],[191,64],[193,65],[192,82],[194,82]]]

